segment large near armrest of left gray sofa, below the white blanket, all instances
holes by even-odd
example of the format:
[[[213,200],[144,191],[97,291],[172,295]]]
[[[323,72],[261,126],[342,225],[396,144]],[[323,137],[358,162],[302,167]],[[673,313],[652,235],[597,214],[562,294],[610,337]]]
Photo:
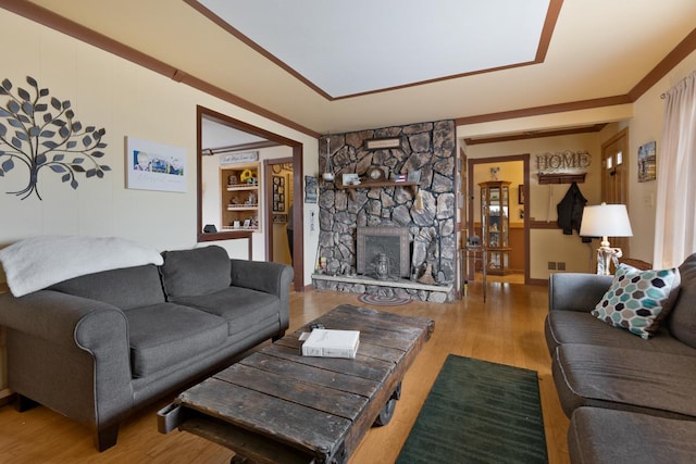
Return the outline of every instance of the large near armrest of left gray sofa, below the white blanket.
[[[120,309],[53,290],[5,293],[0,324],[21,347],[8,352],[21,361],[13,368],[22,372],[11,374],[20,393],[90,425],[116,423],[132,409],[128,323]],[[64,362],[54,365],[55,356]]]

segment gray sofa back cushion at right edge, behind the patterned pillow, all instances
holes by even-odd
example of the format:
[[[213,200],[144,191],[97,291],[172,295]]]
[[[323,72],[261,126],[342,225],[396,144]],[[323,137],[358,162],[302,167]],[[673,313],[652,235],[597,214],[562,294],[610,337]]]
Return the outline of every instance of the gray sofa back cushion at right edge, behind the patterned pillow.
[[[682,277],[681,291],[668,325],[674,338],[696,348],[696,253],[684,260],[679,272]]]

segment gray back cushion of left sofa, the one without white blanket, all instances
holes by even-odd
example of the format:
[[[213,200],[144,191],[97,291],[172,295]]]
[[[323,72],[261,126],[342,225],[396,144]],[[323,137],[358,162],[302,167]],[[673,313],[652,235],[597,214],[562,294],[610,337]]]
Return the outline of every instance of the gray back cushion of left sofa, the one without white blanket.
[[[210,246],[192,250],[165,251],[160,268],[169,300],[212,293],[229,287],[229,255],[224,248]]]

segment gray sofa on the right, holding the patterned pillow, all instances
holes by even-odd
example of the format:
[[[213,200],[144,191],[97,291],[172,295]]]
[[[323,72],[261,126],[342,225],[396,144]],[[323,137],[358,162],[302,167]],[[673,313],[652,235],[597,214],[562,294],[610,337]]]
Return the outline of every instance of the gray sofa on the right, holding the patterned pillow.
[[[591,311],[612,276],[554,274],[546,341],[574,463],[696,462],[696,254],[649,339]]]

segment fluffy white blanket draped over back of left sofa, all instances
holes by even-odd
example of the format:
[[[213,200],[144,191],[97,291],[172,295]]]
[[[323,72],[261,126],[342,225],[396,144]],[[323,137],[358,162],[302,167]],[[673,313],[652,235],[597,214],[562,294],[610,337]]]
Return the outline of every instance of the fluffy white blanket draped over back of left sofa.
[[[0,250],[15,297],[86,274],[162,262],[157,250],[115,237],[41,236]]]

